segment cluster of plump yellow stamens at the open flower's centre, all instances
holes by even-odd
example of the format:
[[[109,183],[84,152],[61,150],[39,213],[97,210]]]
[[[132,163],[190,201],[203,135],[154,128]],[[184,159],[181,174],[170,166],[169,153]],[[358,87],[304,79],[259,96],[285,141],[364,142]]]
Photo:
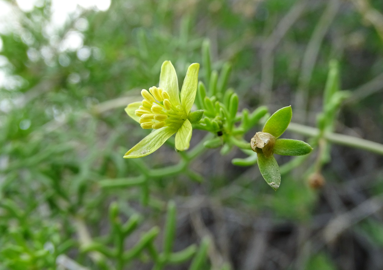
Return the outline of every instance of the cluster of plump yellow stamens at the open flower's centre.
[[[141,128],[159,129],[164,126],[173,126],[179,129],[187,119],[187,115],[181,106],[175,106],[170,102],[169,93],[155,86],[149,88],[149,92],[142,89],[144,98],[138,110],[134,113],[139,116]]]

